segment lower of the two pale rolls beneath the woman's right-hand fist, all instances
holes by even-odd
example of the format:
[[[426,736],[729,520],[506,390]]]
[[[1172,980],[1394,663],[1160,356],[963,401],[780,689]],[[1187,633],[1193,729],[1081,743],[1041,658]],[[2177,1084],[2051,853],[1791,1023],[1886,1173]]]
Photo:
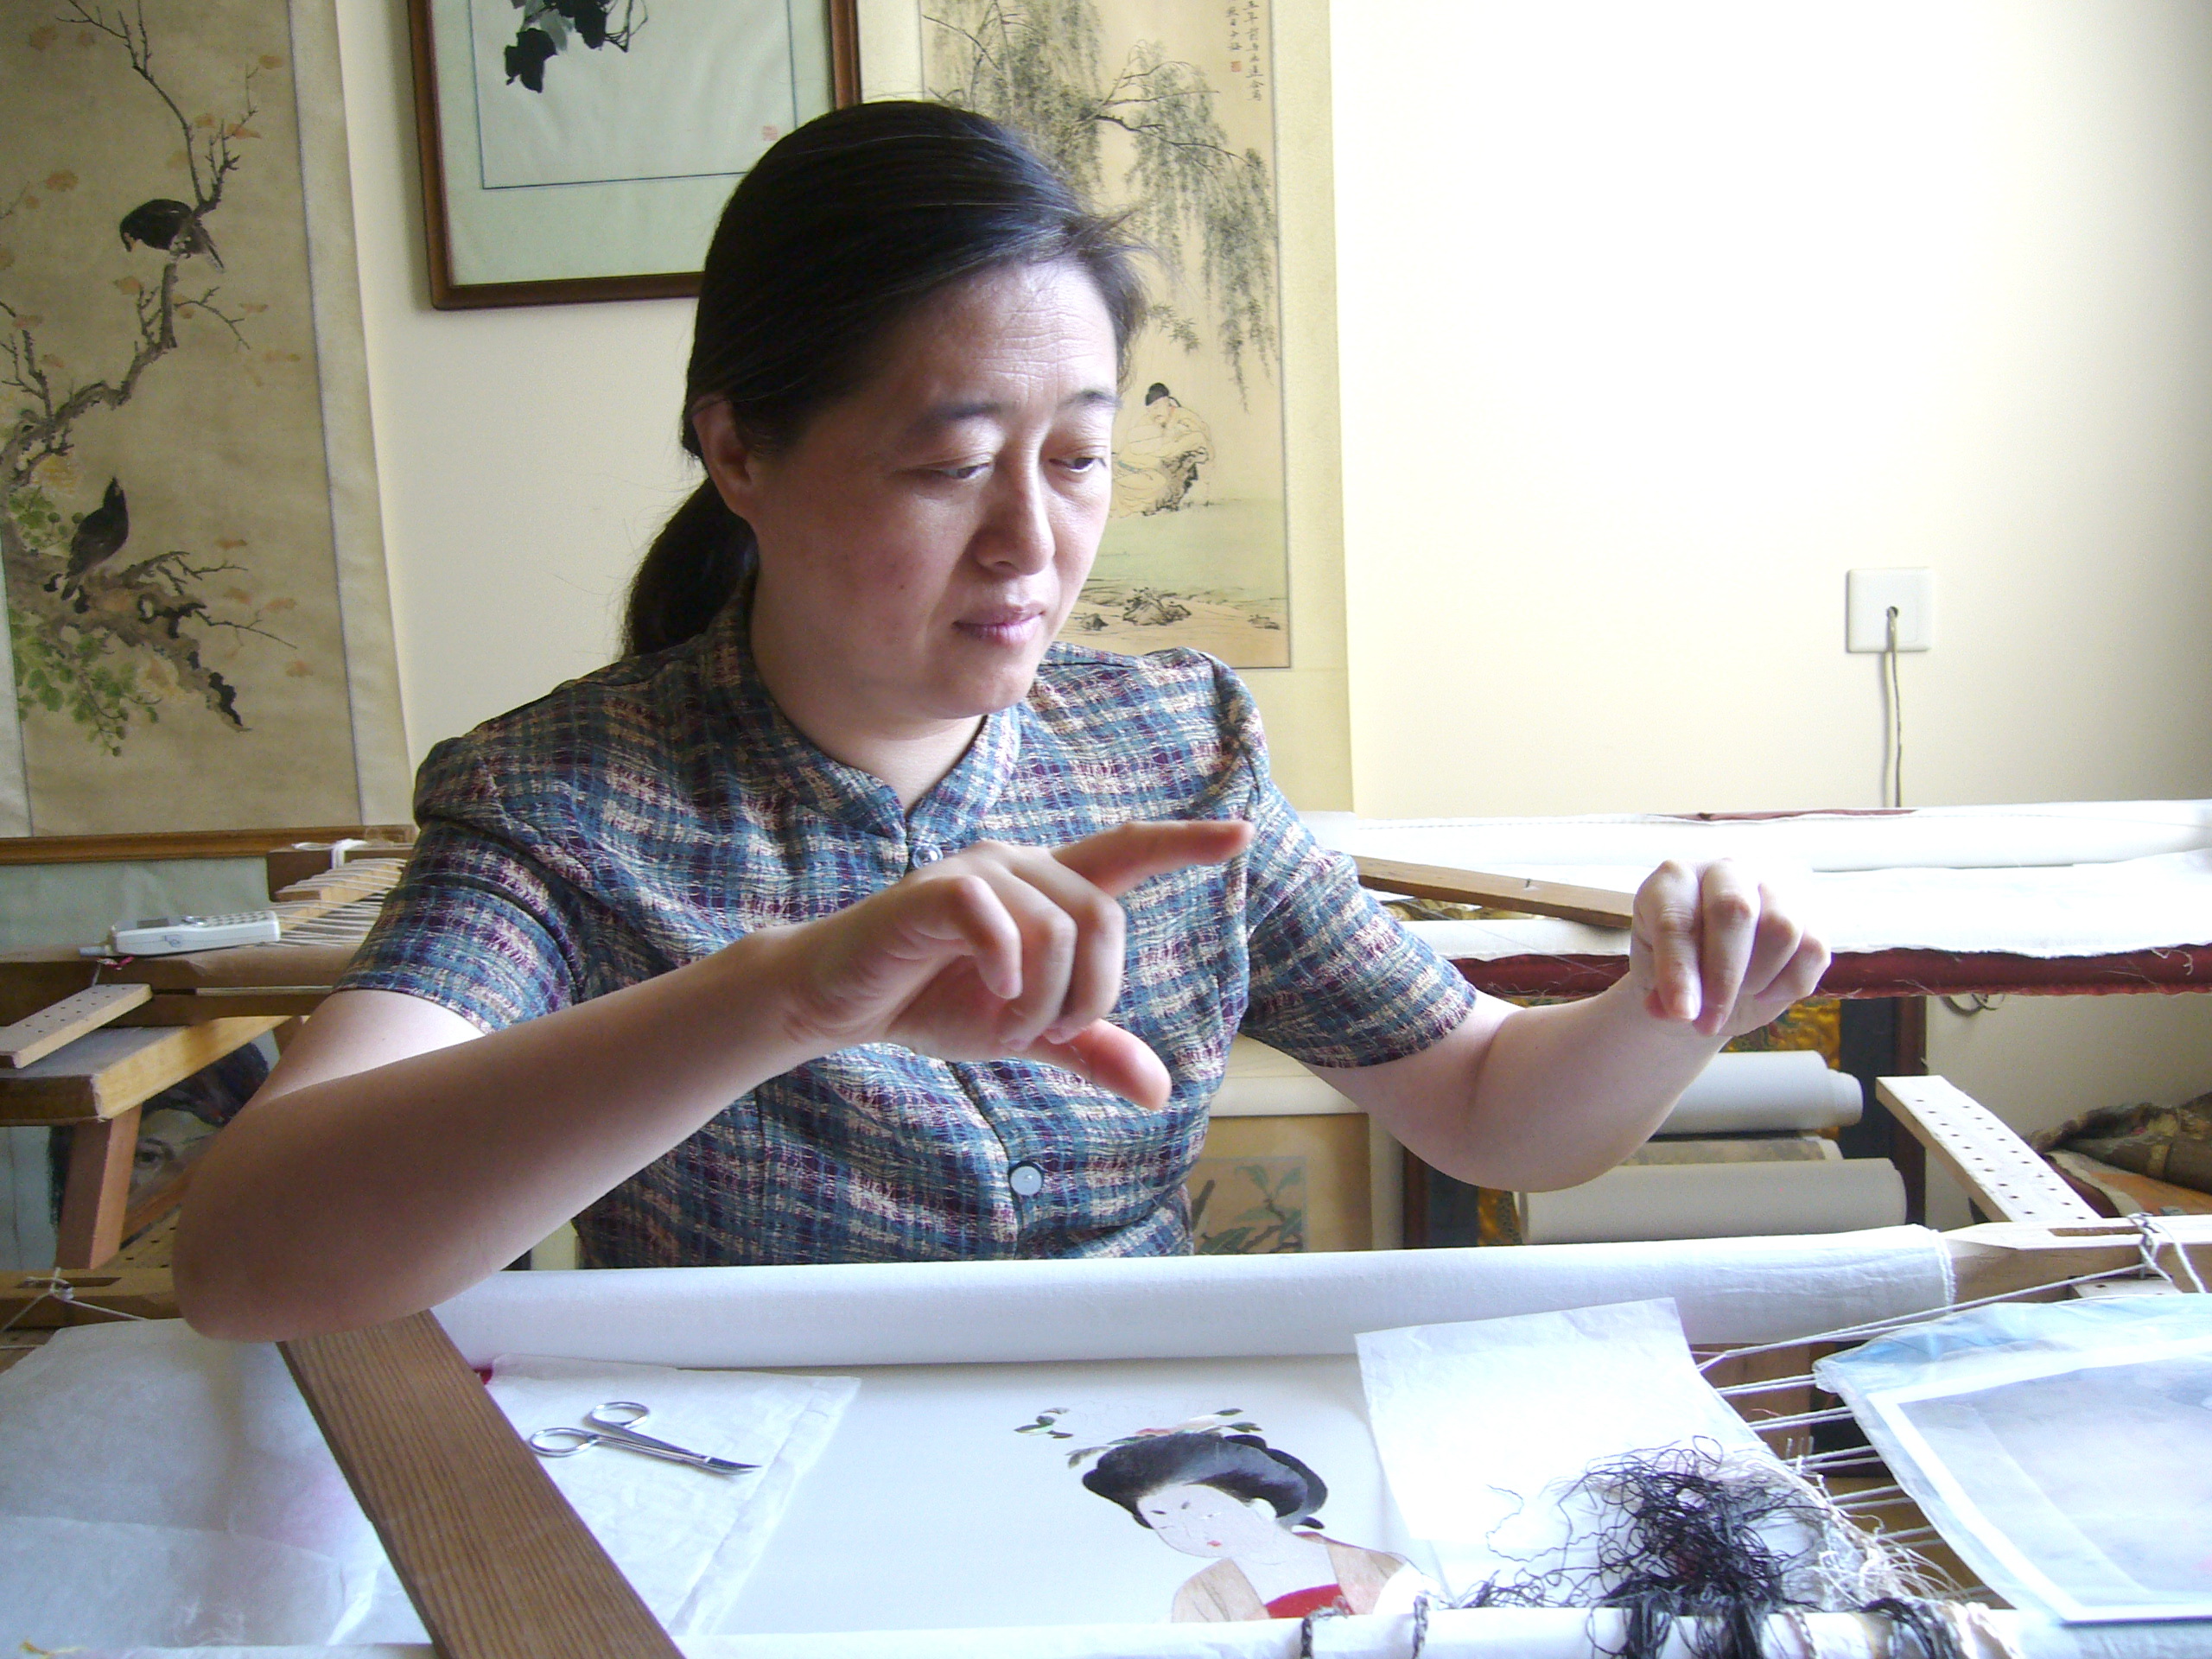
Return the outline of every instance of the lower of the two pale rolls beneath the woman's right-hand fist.
[[[1533,1245],[1723,1239],[1885,1228],[1905,1219],[1889,1159],[1792,1164],[1624,1164],[1562,1192],[1531,1192]]]

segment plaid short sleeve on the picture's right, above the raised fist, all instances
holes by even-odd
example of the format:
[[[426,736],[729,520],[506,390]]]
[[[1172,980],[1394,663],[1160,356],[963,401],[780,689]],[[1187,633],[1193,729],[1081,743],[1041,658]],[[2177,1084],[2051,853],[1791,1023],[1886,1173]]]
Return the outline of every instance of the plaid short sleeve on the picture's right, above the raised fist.
[[[1475,1009],[1458,969],[1413,938],[1325,852],[1261,772],[1248,854],[1245,1035],[1310,1066],[1380,1066]]]

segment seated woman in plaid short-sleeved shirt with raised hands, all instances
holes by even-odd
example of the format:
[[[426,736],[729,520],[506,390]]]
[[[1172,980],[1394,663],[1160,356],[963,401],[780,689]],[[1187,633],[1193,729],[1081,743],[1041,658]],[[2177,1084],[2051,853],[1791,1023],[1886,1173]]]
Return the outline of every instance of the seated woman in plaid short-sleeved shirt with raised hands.
[[[407,878],[195,1175],[199,1329],[392,1318],[568,1217],[597,1265],[1186,1250],[1239,1029],[1438,1168],[1573,1183],[1812,989],[1717,865],[1655,874],[1615,991],[1475,998],[1298,827],[1234,675],[1048,650],[1128,259],[960,111],[761,159],[633,655],[431,752]]]

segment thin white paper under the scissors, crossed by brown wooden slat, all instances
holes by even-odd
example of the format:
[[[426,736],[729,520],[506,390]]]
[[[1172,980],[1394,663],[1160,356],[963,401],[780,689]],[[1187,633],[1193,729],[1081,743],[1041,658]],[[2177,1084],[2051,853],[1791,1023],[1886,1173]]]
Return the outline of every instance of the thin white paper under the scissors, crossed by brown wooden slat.
[[[540,1360],[511,1363],[495,1398],[524,1431],[644,1400],[661,1438],[765,1464],[726,1480],[604,1447],[553,1462],[646,1604],[688,1630],[739,1597],[852,1389]],[[274,1347],[86,1325],[0,1374],[0,1648],[420,1639]]]

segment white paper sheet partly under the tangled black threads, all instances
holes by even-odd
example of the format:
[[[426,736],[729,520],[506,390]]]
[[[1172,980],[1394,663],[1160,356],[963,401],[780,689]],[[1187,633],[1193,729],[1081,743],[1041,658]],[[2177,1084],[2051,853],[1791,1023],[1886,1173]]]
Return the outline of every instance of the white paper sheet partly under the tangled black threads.
[[[1705,1440],[1781,1467],[1697,1374],[1668,1301],[1369,1332],[1360,1383],[1398,1513],[1453,1595],[1588,1524],[1559,1489],[1599,1460]]]

